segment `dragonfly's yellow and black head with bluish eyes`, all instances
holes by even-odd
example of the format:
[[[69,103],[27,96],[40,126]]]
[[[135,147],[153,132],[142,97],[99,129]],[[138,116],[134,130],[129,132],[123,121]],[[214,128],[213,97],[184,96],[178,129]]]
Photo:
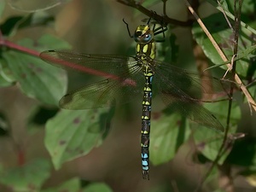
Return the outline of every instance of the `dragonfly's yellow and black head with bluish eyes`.
[[[150,30],[148,25],[141,25],[135,30],[133,37],[138,44],[148,44],[154,39],[154,33]]]

